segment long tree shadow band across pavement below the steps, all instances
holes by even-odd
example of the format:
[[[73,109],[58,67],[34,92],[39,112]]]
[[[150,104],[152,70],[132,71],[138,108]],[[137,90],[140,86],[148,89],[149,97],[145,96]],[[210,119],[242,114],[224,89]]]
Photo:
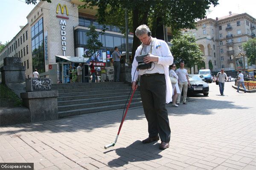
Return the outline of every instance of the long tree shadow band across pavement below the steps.
[[[201,95],[195,95],[196,97],[188,98],[187,105],[180,103],[179,107],[173,107],[172,104],[166,105],[169,116],[184,116],[187,114],[209,115],[221,113],[222,109],[249,109],[248,107],[235,105],[234,102],[221,101],[218,99],[209,99],[208,97],[201,97]],[[219,96],[221,98],[221,96]],[[34,123],[24,123],[17,125],[9,125],[6,129],[0,130],[0,135],[19,132],[46,132],[51,133],[59,132],[77,132],[79,130],[83,132],[90,132],[95,128],[108,128],[119,126],[122,119],[123,109],[105,111],[98,113],[87,113],[78,116],[69,116],[64,119],[42,121]],[[223,113],[224,114],[224,113]],[[141,120],[145,119],[144,111],[142,107],[129,108],[125,121],[128,120]]]

